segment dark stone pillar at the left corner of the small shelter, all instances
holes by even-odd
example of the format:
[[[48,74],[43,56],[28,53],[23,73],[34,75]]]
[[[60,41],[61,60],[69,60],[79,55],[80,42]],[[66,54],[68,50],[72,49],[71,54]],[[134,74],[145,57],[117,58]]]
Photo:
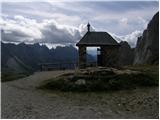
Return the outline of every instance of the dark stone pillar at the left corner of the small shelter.
[[[83,69],[86,67],[86,47],[85,46],[79,46],[79,63],[78,66],[80,69]]]

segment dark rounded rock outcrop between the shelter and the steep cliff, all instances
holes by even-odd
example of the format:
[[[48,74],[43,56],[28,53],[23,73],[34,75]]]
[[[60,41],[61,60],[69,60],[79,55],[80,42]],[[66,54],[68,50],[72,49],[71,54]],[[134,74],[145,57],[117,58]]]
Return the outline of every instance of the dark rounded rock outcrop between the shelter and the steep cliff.
[[[134,51],[126,41],[120,42],[118,65],[131,65],[134,60]]]

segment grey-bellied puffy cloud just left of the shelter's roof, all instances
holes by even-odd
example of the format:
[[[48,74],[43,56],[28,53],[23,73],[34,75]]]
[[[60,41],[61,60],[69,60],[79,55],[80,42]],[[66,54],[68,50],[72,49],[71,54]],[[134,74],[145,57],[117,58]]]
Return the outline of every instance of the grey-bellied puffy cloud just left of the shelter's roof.
[[[54,20],[43,21],[41,32],[44,43],[76,43],[80,39],[80,32],[77,28],[68,25],[60,25]]]

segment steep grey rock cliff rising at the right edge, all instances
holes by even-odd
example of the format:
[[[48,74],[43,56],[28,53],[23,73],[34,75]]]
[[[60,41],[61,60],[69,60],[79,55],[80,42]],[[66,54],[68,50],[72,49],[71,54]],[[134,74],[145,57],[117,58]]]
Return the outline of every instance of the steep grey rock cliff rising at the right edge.
[[[159,12],[149,22],[143,35],[138,38],[134,64],[159,63]]]

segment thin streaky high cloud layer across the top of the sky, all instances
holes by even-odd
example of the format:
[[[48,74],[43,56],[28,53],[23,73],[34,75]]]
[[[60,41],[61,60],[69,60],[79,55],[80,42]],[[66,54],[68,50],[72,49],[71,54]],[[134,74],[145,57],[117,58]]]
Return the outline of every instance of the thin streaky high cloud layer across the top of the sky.
[[[54,19],[59,24],[76,27],[90,21],[96,30],[127,35],[143,30],[145,22],[159,9],[158,1],[41,1],[6,2],[2,4],[2,13],[10,17],[21,14],[37,21]]]

